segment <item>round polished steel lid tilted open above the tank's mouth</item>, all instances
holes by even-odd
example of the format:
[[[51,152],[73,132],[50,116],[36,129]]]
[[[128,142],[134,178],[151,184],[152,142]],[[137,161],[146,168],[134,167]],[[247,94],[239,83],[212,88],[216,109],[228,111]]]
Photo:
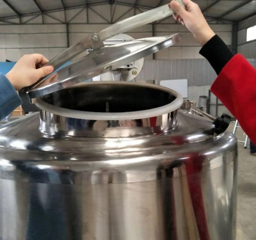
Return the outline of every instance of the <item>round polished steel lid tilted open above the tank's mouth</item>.
[[[97,34],[94,35],[95,39]],[[27,92],[36,98],[84,82],[94,76],[115,70],[125,64],[170,47],[180,41],[180,34],[150,37],[104,46],[46,77]]]

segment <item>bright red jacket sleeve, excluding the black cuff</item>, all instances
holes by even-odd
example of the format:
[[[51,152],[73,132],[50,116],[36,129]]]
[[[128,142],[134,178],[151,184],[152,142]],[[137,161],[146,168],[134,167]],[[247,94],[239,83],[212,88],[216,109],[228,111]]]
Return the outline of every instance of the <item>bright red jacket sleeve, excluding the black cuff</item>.
[[[211,91],[256,144],[256,69],[237,54],[222,69]]]

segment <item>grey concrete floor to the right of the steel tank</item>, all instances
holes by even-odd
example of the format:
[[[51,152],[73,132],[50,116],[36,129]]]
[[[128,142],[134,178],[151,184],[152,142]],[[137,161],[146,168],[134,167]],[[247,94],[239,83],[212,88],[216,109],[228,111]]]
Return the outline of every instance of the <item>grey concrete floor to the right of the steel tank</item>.
[[[232,132],[234,123],[228,130]],[[245,140],[241,128],[236,131],[238,140]],[[247,149],[244,143],[238,143],[238,196],[237,196],[237,229],[244,232],[245,239],[256,239],[256,157],[250,155],[249,142]]]

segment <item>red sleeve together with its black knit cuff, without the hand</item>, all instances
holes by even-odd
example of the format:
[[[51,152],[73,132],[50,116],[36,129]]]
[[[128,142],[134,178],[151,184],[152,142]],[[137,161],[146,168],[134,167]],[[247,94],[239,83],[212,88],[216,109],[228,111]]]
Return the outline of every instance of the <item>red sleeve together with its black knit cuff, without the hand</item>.
[[[256,143],[256,69],[240,54],[234,56],[217,36],[200,50],[218,74],[211,91],[236,117],[244,132]]]

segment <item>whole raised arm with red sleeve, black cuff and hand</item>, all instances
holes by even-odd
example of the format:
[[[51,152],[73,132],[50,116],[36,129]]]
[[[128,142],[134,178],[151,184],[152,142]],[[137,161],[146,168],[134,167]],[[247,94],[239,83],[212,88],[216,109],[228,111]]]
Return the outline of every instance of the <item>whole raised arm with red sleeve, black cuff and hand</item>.
[[[200,54],[212,65],[217,79],[211,91],[239,121],[244,132],[256,143],[256,69],[246,59],[228,49],[212,31],[199,6],[183,0],[186,10],[176,1],[171,2],[174,18],[186,25],[195,40],[202,45]]]

